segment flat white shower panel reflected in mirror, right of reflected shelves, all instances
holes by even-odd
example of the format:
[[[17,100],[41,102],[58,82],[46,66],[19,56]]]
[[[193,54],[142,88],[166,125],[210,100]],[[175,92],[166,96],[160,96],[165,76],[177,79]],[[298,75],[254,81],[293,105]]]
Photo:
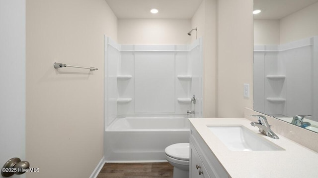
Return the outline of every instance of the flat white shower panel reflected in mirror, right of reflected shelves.
[[[279,54],[279,58],[283,59],[286,65],[288,77],[286,78],[287,116],[312,114],[314,95],[312,95],[313,45],[311,39],[293,42],[283,47],[292,48]]]

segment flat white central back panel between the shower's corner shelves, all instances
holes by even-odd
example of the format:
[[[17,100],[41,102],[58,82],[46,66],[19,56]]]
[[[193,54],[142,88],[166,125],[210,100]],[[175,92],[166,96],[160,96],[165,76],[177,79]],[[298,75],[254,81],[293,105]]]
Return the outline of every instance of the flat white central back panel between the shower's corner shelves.
[[[135,52],[135,113],[174,113],[174,52]]]

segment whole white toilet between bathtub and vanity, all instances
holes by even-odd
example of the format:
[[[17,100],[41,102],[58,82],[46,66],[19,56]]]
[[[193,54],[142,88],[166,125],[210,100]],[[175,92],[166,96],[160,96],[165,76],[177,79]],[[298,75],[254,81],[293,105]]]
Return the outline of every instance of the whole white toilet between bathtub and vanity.
[[[176,143],[164,149],[167,161],[173,166],[173,178],[189,178],[189,143]]]

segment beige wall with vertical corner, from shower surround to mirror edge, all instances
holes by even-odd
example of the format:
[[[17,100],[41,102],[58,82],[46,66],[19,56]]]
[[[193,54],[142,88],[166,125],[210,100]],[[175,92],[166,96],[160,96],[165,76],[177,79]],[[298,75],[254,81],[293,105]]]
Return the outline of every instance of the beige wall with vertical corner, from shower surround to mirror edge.
[[[204,117],[242,117],[244,107],[253,107],[252,6],[252,0],[203,0],[191,19],[203,37]]]

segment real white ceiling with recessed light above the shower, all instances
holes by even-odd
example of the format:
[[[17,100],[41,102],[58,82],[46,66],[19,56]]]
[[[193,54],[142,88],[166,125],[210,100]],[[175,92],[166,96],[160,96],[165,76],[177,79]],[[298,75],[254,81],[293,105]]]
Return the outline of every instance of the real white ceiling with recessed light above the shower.
[[[202,0],[106,0],[119,19],[191,19]],[[150,9],[157,8],[157,14]]]

